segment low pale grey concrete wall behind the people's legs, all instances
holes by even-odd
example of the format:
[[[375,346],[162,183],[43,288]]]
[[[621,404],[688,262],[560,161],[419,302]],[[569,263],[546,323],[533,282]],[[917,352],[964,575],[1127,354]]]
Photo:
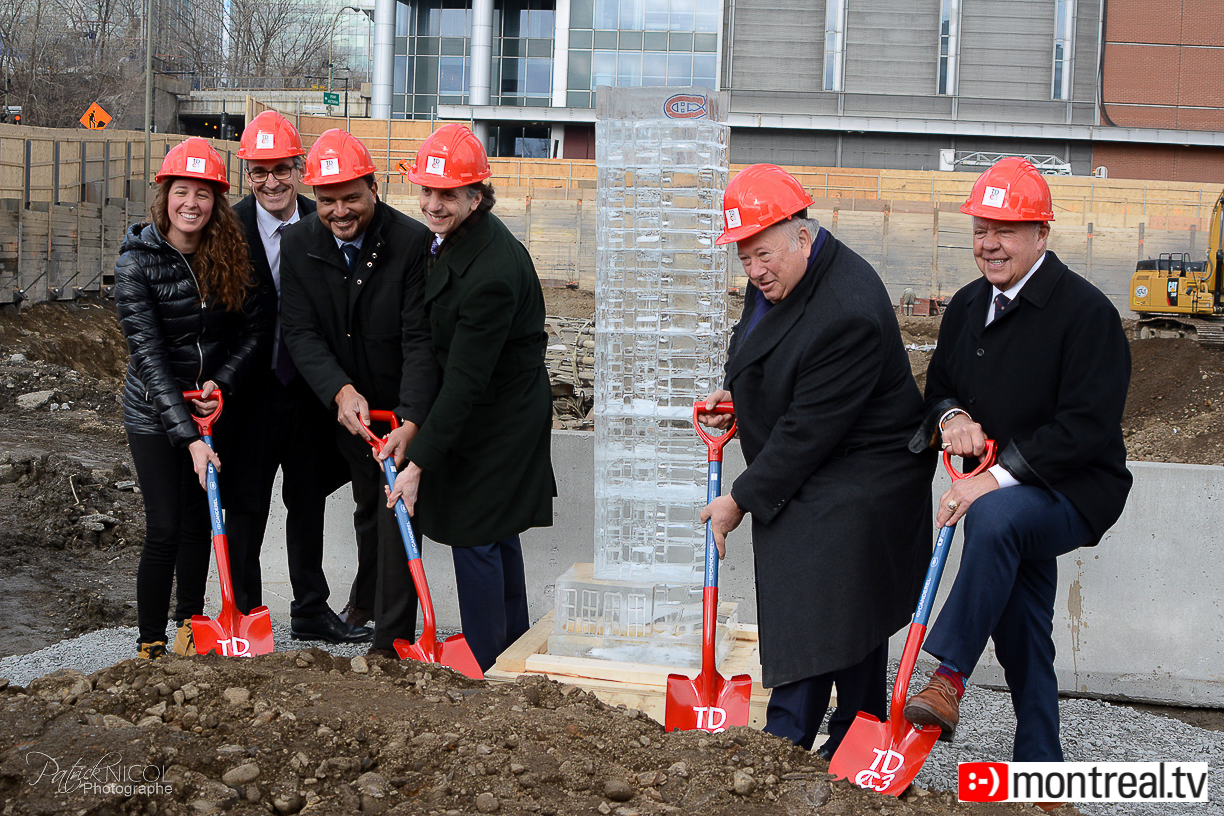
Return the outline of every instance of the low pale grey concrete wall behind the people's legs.
[[[561,492],[550,529],[523,536],[531,619],[553,604],[553,581],[577,562],[590,562],[594,547],[594,434],[553,432],[553,467]],[[727,448],[726,480],[743,471],[737,443]],[[1219,564],[1224,538],[1217,503],[1224,498],[1224,467],[1131,462],[1135,488],[1122,517],[1095,548],[1060,560],[1054,637],[1055,668],[1065,692],[1147,700],[1171,705],[1224,707],[1224,603]],[[936,477],[933,499],[947,488]],[[327,574],[332,606],[344,606],[354,575],[351,499],[340,491],[328,504]],[[264,546],[266,599],[286,619],[284,511],[268,525]],[[721,597],[738,601],[741,619],[756,620],[749,524],[732,533],[721,571]],[[952,586],[960,563],[958,535],[941,591]],[[459,628],[454,571],[448,549],[425,542],[424,559],[437,604],[438,625]],[[219,598],[215,588],[211,601]],[[898,658],[905,631],[892,642]],[[993,655],[983,657],[974,683],[1001,685]]]

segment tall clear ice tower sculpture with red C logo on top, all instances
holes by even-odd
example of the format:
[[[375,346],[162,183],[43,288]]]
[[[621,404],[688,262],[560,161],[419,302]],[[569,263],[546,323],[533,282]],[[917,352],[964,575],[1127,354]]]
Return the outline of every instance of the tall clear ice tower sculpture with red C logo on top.
[[[706,451],[690,416],[726,355],[728,132],[705,88],[599,89],[595,563],[558,579],[550,653],[698,664]]]

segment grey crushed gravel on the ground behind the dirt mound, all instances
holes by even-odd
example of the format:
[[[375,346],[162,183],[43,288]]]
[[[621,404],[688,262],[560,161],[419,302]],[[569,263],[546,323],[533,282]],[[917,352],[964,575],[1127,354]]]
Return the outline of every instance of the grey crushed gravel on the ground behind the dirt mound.
[[[131,657],[136,634],[135,628],[98,630],[31,655],[6,657],[0,659],[0,678],[27,685],[32,679],[61,668],[75,668],[86,674],[98,672]],[[306,645],[305,641],[293,640],[285,624],[273,623],[273,634],[278,651]],[[368,648],[365,644],[308,645],[345,657],[364,655]],[[896,664],[891,667],[890,689],[891,673],[895,672]],[[922,672],[916,672],[912,690],[917,691],[923,681]],[[1224,732],[1204,730],[1176,719],[1098,700],[1064,699],[1060,710],[1062,749],[1067,761],[1184,761],[1207,762],[1212,768],[1209,803],[1082,803],[1077,805],[1081,812],[1089,816],[1224,816],[1224,781],[1219,774],[1219,768],[1224,767]],[[1015,724],[1011,699],[1006,692],[971,686],[961,706],[961,724],[955,741],[935,745],[916,784],[929,790],[956,790],[958,762],[1010,759]]]

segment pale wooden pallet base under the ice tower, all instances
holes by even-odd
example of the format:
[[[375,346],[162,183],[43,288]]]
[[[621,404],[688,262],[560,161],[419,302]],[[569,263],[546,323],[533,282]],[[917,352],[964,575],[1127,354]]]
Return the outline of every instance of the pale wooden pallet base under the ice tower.
[[[543,674],[558,683],[568,683],[590,691],[606,703],[613,706],[623,703],[645,712],[660,723],[663,722],[667,675],[674,672],[674,668],[548,655],[548,635],[552,634],[552,629],[553,613],[550,610],[528,634],[502,652],[493,668],[485,672],[485,679],[510,681],[524,674]],[[756,626],[739,624],[736,629],[736,644],[731,648],[731,655],[718,667],[718,672],[723,677],[748,674],[753,678],[748,724],[753,728],[764,727],[765,706],[770,692],[760,683],[761,664],[756,651]],[[698,669],[685,669],[684,673],[696,677]]]

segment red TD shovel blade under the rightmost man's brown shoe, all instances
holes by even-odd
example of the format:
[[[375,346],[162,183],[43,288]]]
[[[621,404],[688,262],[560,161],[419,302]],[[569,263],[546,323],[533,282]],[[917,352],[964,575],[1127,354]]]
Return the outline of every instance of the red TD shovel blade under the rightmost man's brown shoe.
[[[881,723],[859,712],[837,746],[829,773],[885,796],[909,787],[939,739],[939,727],[919,727],[895,717]]]

